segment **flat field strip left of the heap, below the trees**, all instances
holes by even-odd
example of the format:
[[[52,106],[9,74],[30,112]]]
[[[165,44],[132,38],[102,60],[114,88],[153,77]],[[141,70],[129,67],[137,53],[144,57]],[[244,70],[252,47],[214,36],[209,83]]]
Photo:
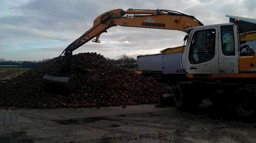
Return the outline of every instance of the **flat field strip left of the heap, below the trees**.
[[[30,68],[0,68],[0,82],[7,82]]]

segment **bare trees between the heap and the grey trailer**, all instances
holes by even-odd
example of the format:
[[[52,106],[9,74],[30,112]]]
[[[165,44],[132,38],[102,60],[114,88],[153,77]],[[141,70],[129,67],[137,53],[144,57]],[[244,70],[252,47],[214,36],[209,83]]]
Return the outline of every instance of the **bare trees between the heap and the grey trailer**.
[[[112,62],[113,64],[115,64],[116,66],[120,66],[122,68],[137,68],[138,67],[138,62],[136,59],[134,59],[133,57],[130,57],[126,54],[121,55],[121,57],[117,60],[115,59],[110,59],[110,58],[106,58],[108,61]]]

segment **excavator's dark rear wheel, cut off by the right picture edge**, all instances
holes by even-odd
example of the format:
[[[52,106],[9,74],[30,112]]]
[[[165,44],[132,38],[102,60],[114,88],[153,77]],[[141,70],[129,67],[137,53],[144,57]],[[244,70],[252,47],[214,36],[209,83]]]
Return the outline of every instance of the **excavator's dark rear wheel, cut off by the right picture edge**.
[[[235,100],[233,108],[243,117],[252,116],[255,113],[255,85],[245,85],[235,91]]]

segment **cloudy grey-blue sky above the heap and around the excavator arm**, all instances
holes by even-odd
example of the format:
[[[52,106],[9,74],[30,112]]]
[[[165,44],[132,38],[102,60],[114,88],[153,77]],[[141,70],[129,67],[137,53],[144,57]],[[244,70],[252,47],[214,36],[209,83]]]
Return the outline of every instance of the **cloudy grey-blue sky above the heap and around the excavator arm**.
[[[255,0],[1,0],[0,58],[42,60],[58,56],[70,43],[92,27],[102,13],[122,8],[169,9],[195,16],[204,25],[228,23],[227,15],[256,18]],[[97,52],[118,59],[136,57],[183,45],[186,33],[175,30],[112,27],[102,43],[88,42],[73,54]]]

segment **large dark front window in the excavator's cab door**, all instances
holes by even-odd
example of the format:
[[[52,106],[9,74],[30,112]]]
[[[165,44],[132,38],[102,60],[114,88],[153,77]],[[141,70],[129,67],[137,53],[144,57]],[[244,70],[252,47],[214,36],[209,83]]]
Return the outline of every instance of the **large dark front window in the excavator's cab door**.
[[[199,64],[213,59],[215,54],[215,29],[196,31],[192,37],[189,50],[191,64]]]

